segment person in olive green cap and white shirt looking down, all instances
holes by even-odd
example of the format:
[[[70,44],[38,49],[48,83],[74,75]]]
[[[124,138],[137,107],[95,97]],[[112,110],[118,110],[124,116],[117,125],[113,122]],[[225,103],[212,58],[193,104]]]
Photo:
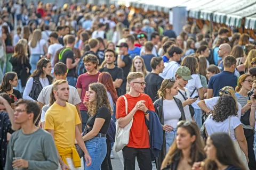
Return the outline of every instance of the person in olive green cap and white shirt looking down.
[[[178,95],[174,97],[181,100],[182,106],[184,108],[186,120],[195,121],[194,115],[191,116],[189,107],[191,107],[191,104],[193,104],[197,100],[197,98],[195,99],[191,98],[189,90],[185,87],[188,83],[188,80],[193,79],[190,75],[190,70],[188,69],[188,67],[180,66],[179,69],[175,72],[175,79],[178,83],[179,92],[178,92]]]

